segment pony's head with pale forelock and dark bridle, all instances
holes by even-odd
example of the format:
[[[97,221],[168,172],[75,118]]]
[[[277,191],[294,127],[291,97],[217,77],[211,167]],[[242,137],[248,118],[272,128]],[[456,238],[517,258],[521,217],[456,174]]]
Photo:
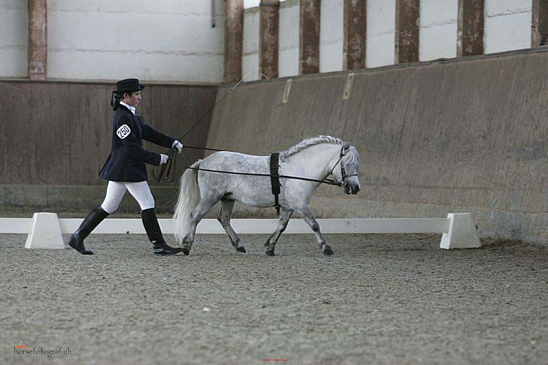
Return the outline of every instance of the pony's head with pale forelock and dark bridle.
[[[345,142],[335,161],[331,168],[331,175],[335,177],[345,194],[358,194],[360,191],[360,180],[358,179],[360,155],[356,148]]]

